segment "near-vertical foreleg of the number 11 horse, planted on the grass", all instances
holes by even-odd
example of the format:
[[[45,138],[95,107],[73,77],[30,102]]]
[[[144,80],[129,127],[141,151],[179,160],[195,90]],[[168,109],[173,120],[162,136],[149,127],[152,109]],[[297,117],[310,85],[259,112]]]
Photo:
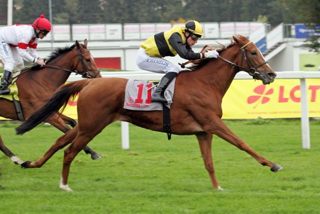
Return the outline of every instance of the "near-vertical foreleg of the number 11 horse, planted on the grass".
[[[201,132],[201,133],[195,134],[195,136],[198,139],[201,155],[204,161],[204,166],[209,173],[213,188],[218,190],[223,190],[219,186],[218,180],[216,179],[215,173],[214,173],[212,154],[211,154],[212,134]]]

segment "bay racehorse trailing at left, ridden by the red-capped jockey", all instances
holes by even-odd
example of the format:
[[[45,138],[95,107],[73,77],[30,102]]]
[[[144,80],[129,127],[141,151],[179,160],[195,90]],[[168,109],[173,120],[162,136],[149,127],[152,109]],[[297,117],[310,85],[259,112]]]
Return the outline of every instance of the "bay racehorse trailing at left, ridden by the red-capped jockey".
[[[54,91],[65,83],[71,73],[77,73],[82,77],[97,78],[101,77],[89,50],[86,49],[87,41],[84,45],[77,41],[74,45],[65,48],[55,49],[49,56],[44,68],[33,66],[21,70],[16,80],[19,101],[22,106],[23,115],[28,117],[31,112],[40,108],[46,103]],[[0,99],[0,116],[12,120],[19,120],[12,101]],[[21,118],[20,118],[21,120]],[[66,133],[76,122],[63,114],[55,114],[48,120],[60,131]],[[0,150],[8,156],[15,164],[22,164],[23,161],[15,156],[3,143],[0,136]],[[91,154],[92,159],[99,158],[99,155],[89,147],[86,153]]]

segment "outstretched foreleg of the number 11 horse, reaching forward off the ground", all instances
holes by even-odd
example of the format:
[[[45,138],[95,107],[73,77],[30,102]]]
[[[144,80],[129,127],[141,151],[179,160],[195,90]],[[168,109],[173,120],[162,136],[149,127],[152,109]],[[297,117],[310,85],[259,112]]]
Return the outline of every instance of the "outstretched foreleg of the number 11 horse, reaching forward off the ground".
[[[270,170],[276,172],[282,169],[281,166],[265,159],[257,152],[255,152],[250,146],[248,146],[243,140],[241,140],[238,136],[236,136],[224,123],[220,118],[215,118],[213,124],[213,128],[209,131],[212,134],[216,134],[220,138],[226,140],[227,142],[235,145],[239,149],[247,152],[251,155],[255,160],[257,160],[263,166],[269,166]]]

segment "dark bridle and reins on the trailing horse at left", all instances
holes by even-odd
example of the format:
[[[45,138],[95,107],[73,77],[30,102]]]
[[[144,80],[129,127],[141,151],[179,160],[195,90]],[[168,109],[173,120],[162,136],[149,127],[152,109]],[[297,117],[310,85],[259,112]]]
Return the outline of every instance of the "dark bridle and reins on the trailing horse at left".
[[[61,67],[58,67],[58,66],[52,66],[52,65],[44,65],[43,67],[46,67],[46,68],[53,68],[53,69],[57,69],[57,70],[62,70],[62,71],[66,71],[66,72],[69,72],[69,73],[75,73],[75,75],[81,75],[82,78],[96,78],[96,76],[100,73],[100,71],[98,69],[87,69],[86,66],[84,65],[84,62],[83,62],[83,58],[82,58],[82,54],[88,52],[89,50],[85,50],[83,52],[80,52],[79,49],[77,49],[77,52],[78,52],[78,62],[76,63],[74,69],[66,69],[66,68],[61,68]],[[75,70],[75,68],[78,66],[78,64],[81,63],[81,66],[82,66],[82,69],[83,69],[83,72],[78,72]],[[35,65],[37,66],[37,65]],[[33,66],[32,66],[33,67]],[[32,67],[30,68],[27,68],[25,69],[22,73],[20,73],[19,75],[15,76],[15,78],[17,78],[18,76],[24,74],[25,72],[29,71]],[[91,77],[88,73],[88,71],[97,71],[98,73],[94,76],[94,77]]]

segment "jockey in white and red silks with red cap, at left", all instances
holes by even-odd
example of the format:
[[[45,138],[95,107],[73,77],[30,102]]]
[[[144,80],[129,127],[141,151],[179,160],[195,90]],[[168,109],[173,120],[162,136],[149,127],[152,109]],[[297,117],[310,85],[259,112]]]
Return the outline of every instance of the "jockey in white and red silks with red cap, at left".
[[[50,22],[41,15],[32,25],[12,25],[0,30],[0,58],[4,64],[0,95],[9,94],[7,85],[14,67],[24,68],[23,60],[45,65],[36,53],[36,46],[51,31]],[[26,49],[28,48],[28,52]]]

